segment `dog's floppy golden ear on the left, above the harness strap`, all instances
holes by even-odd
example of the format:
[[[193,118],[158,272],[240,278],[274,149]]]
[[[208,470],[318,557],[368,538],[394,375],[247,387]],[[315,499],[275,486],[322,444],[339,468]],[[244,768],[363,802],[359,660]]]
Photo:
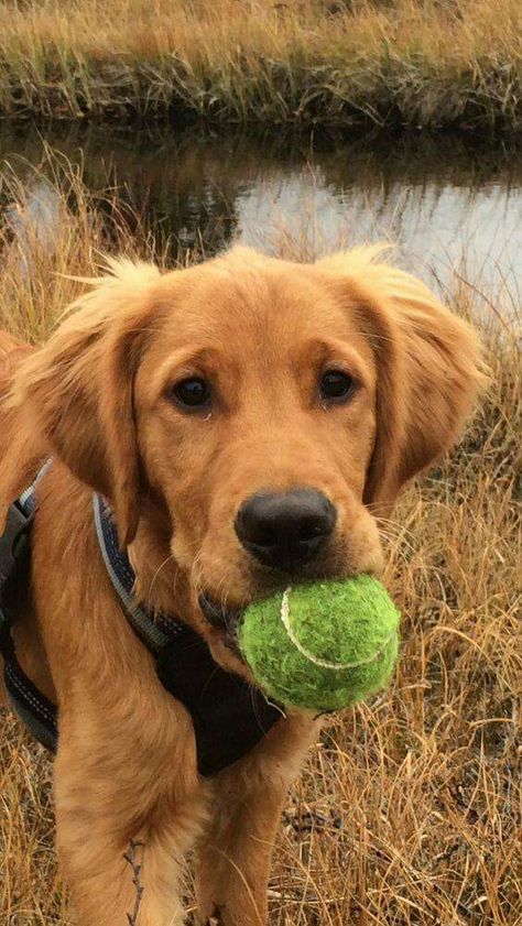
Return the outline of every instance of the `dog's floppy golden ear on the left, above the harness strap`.
[[[113,261],[110,269],[111,275],[88,281],[93,290],[21,364],[12,404],[23,413],[28,433],[43,438],[52,455],[110,500],[127,544],[139,518],[133,378],[150,316],[144,296],[159,271],[129,261]]]

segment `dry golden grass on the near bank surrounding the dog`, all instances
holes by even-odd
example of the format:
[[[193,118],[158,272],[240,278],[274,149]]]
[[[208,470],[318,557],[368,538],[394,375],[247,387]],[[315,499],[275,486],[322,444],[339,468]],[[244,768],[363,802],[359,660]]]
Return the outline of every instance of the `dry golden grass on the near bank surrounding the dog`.
[[[109,209],[79,176],[57,173],[56,183],[63,205],[52,247],[30,231],[13,235],[23,192],[4,190],[0,326],[33,338],[78,290],[61,274],[90,274],[100,249],[165,260],[145,229],[126,231],[116,193]],[[384,531],[388,579],[404,614],[399,668],[385,694],[333,725],[289,796],[272,926],[522,923],[520,315],[507,285],[496,303],[480,290],[479,280],[459,282],[452,304],[482,318],[488,392],[456,451],[409,490]],[[1,924],[69,922],[53,829],[47,758],[0,713]],[[192,904],[188,883],[188,912]]]

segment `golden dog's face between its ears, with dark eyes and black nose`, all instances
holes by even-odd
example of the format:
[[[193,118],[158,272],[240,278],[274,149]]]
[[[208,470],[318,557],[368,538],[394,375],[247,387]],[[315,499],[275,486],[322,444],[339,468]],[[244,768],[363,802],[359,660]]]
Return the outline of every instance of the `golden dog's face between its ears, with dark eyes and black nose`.
[[[226,610],[382,565],[362,501],[372,350],[320,272],[267,264],[165,277],[134,382],[140,456],[174,557]]]

